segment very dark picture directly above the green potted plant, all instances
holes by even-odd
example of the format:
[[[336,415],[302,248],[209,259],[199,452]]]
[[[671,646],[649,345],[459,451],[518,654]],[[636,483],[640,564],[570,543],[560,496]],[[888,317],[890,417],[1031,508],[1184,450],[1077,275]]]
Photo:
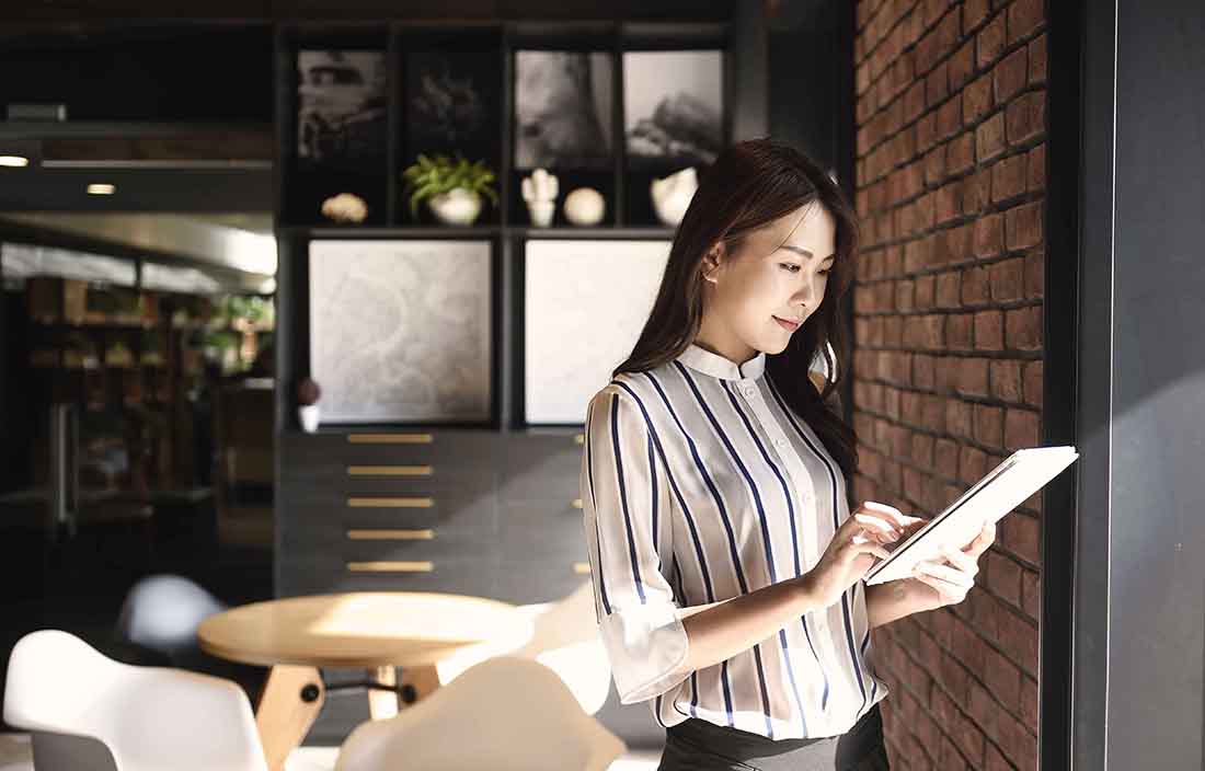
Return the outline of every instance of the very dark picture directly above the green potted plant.
[[[496,169],[501,76],[496,51],[412,51],[406,82],[407,153],[460,153]]]

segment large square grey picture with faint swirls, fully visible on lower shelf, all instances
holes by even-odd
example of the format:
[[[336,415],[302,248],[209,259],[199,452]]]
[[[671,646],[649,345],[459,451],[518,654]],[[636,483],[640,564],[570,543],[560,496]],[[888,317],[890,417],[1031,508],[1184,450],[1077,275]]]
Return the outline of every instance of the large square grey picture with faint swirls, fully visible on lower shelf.
[[[310,242],[323,423],[490,418],[489,241]]]

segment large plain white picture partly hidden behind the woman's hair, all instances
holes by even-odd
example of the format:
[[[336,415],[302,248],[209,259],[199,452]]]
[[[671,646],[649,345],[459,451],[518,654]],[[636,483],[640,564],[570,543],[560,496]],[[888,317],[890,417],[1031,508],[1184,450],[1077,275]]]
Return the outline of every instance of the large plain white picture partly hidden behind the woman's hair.
[[[662,240],[527,242],[523,371],[529,424],[586,420],[590,396],[611,381],[648,319],[669,251],[670,241]]]

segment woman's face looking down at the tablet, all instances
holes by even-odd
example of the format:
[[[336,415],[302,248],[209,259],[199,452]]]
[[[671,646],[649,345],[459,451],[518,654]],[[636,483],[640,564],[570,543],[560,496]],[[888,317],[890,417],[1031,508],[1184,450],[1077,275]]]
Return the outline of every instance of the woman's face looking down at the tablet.
[[[737,364],[759,351],[781,353],[819,307],[835,245],[836,220],[821,204],[768,223],[735,252],[719,245],[705,258],[695,342]]]

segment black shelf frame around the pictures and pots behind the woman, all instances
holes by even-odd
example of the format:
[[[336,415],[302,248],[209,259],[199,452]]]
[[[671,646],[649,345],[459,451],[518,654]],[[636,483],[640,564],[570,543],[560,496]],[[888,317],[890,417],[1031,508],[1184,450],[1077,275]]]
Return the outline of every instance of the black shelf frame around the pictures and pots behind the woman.
[[[481,224],[471,226],[415,224],[404,196],[400,171],[412,159],[405,157],[405,58],[408,51],[429,51],[430,45],[448,43],[463,36],[452,48],[495,51],[499,60],[501,114],[498,116],[499,149],[494,169],[498,172],[499,204],[482,211]],[[647,201],[647,186],[653,176],[671,173],[664,170],[633,170],[628,167],[624,131],[623,59],[635,51],[721,51],[723,58],[722,135],[724,143],[733,137],[735,83],[735,39],[733,20],[354,20],[354,22],[281,22],[276,24],[275,84],[276,84],[276,202],[275,223],[280,260],[277,269],[277,378],[276,425],[278,435],[300,431],[296,418],[294,388],[299,378],[310,372],[308,330],[308,243],[323,239],[374,240],[487,240],[493,251],[492,276],[492,363],[493,408],[484,422],[418,423],[399,422],[377,425],[376,430],[472,429],[517,432],[577,432],[576,425],[528,425],[523,418],[523,263],[528,240],[664,240],[672,241],[677,229],[660,224]],[[425,42],[424,42],[425,41]],[[434,41],[434,43],[433,43]],[[382,200],[386,211],[364,224],[335,224],[296,216],[298,175],[296,153],[296,52],[300,48],[372,49],[386,55],[387,77],[387,139],[386,171]],[[519,194],[519,179],[530,169],[515,169],[512,164],[515,136],[515,58],[528,49],[601,52],[612,58],[612,163],[609,169],[589,173],[575,170],[549,169],[560,178],[560,195],[581,184],[600,187],[607,198],[604,222],[594,226],[577,226],[558,217],[552,226],[533,226]],[[475,160],[475,158],[469,158]],[[604,182],[592,184],[588,179]],[[610,187],[610,189],[606,189]],[[637,189],[646,190],[641,195]],[[342,188],[329,188],[328,195]],[[558,206],[560,210],[562,206]],[[315,214],[317,211],[315,210]],[[487,217],[487,214],[492,214]],[[307,219],[307,220],[306,220]],[[348,430],[366,431],[374,426],[362,424],[327,425],[323,432]]]

